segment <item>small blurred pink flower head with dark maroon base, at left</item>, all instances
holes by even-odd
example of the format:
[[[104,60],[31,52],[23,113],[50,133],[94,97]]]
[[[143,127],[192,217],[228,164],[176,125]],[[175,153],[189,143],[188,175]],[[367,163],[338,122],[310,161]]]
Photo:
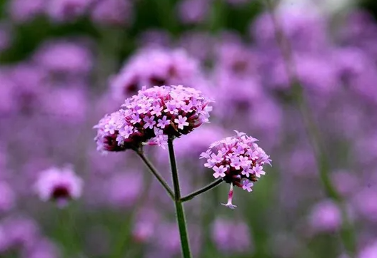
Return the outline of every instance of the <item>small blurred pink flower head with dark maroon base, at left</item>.
[[[51,167],[40,173],[34,187],[41,200],[54,200],[64,206],[81,196],[83,181],[70,167]]]

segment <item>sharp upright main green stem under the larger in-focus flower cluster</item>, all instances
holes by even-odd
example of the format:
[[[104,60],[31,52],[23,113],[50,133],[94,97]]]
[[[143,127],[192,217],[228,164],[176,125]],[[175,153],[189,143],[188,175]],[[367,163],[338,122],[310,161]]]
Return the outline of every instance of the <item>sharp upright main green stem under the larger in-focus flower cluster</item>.
[[[176,205],[176,217],[181,237],[182,255],[184,258],[191,258],[190,244],[188,242],[188,232],[186,228],[186,218],[184,213],[184,205],[181,202],[181,188],[179,187],[178,169],[176,165],[176,155],[174,154],[173,139],[169,138],[169,158],[171,165],[171,177],[174,183],[174,203]]]

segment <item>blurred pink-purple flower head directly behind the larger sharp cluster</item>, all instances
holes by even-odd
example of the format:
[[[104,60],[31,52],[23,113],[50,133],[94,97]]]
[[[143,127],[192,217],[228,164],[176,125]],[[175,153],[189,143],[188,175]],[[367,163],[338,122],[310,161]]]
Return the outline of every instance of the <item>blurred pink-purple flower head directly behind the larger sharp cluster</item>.
[[[116,98],[128,98],[143,86],[167,86],[171,84],[203,89],[203,79],[198,61],[183,49],[144,48],[110,80]]]

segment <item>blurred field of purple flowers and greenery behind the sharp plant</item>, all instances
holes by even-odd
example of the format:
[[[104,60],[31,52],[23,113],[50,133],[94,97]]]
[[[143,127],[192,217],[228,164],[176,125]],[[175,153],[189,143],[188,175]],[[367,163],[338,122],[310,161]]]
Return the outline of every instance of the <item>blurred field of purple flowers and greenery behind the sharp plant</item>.
[[[186,203],[194,257],[346,258],[263,0],[1,0],[0,257],[180,257],[174,205],[130,151],[101,155],[93,126],[141,86],[184,84],[216,100],[176,140],[184,193],[213,180],[199,154],[233,129],[273,167],[253,192],[220,185]],[[356,256],[377,257],[376,1],[286,0],[291,43]],[[146,148],[169,180],[168,154]],[[36,178],[71,168],[83,195],[42,202]],[[170,182],[170,180],[169,180]]]

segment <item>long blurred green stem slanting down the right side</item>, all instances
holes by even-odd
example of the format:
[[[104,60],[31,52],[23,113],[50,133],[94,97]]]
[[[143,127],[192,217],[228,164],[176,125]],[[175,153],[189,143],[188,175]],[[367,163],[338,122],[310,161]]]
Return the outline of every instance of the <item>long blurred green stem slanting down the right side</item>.
[[[334,202],[338,204],[341,210],[343,225],[341,228],[341,240],[343,246],[346,248],[348,254],[351,257],[355,256],[356,252],[356,234],[353,229],[353,225],[348,217],[348,212],[346,210],[346,205],[343,202],[341,195],[338,194],[336,188],[333,185],[330,177],[330,163],[326,155],[326,145],[323,143],[321,138],[321,133],[314,122],[313,114],[308,107],[305,98],[303,96],[303,87],[298,79],[296,73],[296,66],[293,60],[293,51],[291,49],[291,43],[286,38],[283,29],[278,21],[278,17],[275,13],[275,5],[271,0],[265,0],[268,6],[268,10],[271,13],[271,18],[273,21],[273,26],[275,27],[276,41],[279,48],[281,48],[281,53],[283,55],[283,60],[286,63],[286,73],[288,75],[288,80],[291,84],[293,91],[293,99],[296,101],[298,108],[301,113],[301,118],[303,119],[303,124],[305,125],[306,135],[311,142],[313,148],[313,153],[316,158],[316,163],[318,165],[318,170],[320,173],[320,179],[323,184],[323,188],[326,195],[331,198]]]

